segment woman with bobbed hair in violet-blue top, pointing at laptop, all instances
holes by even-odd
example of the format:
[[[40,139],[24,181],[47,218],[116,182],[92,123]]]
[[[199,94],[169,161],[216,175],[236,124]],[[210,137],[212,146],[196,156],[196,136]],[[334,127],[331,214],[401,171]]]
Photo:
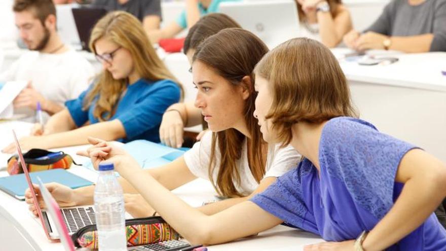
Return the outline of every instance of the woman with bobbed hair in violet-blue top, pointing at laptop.
[[[329,241],[305,250],[446,250],[446,230],[433,214],[446,196],[446,166],[353,118],[346,78],[326,47],[290,40],[266,54],[254,73],[254,116],[264,139],[289,143],[303,161],[250,201],[212,216],[143,170],[115,164],[175,230],[213,244],[285,222]],[[119,159],[104,142],[88,152],[95,165]]]

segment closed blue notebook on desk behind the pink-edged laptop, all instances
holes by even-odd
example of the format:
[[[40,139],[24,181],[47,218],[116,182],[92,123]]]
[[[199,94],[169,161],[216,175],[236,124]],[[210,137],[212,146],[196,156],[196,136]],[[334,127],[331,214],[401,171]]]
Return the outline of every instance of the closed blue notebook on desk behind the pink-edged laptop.
[[[64,169],[30,172],[29,176],[34,184],[38,183],[36,177],[39,176],[43,183],[57,182],[72,189],[93,185],[92,182],[85,180],[85,178]],[[28,183],[23,173],[0,178],[0,190],[19,200],[25,199],[25,190],[27,188]]]

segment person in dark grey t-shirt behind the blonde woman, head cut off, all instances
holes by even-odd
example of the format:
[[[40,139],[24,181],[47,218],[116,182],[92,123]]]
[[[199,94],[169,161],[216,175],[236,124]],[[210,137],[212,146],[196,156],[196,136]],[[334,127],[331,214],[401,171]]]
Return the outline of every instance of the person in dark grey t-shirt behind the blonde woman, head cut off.
[[[91,7],[126,11],[137,17],[147,32],[160,28],[161,0],[94,0]]]

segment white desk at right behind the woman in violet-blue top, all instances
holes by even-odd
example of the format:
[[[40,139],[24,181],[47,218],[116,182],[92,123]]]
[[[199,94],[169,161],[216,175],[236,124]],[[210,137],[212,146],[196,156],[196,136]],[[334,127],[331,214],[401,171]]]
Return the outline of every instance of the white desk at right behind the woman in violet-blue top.
[[[446,161],[446,53],[396,57],[391,65],[340,61],[360,117]]]

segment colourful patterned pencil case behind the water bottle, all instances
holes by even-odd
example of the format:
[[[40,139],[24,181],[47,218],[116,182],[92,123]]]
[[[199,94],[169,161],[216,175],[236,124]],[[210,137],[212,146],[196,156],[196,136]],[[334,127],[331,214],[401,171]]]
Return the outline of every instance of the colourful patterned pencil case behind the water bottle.
[[[126,220],[127,246],[139,246],[166,240],[178,240],[180,235],[159,216]],[[76,247],[98,249],[96,225],[79,229],[71,235]]]

